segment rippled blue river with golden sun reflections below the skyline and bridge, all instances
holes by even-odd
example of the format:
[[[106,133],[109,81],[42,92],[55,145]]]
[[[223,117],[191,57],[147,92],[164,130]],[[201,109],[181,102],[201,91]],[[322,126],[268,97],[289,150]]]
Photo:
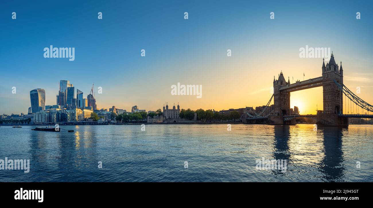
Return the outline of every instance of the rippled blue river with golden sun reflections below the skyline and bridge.
[[[30,160],[1,182],[373,182],[373,125],[34,127],[0,127],[0,159]],[[286,171],[258,170],[263,157]]]

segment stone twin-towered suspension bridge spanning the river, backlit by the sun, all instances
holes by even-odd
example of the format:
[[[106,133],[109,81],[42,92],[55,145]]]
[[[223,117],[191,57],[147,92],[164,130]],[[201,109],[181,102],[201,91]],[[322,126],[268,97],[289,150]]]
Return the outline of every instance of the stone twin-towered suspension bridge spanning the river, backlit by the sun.
[[[323,87],[323,110],[317,111],[316,115],[292,115],[290,108],[290,92],[315,87]],[[248,114],[247,123],[256,123],[265,121],[267,124],[295,124],[296,119],[308,117],[316,119],[316,124],[320,126],[348,126],[348,118],[373,118],[373,115],[363,114],[342,114],[343,112],[343,95],[346,99],[351,100],[356,106],[367,111],[373,112],[373,105],[357,97],[343,84],[343,69],[338,66],[334,60],[333,53],[330,56],[329,63],[323,59],[322,76],[297,81],[295,83],[286,82],[283,73],[279,74],[278,79],[273,77],[273,95],[261,113],[255,116]],[[272,112],[265,115],[272,99],[274,105]]]

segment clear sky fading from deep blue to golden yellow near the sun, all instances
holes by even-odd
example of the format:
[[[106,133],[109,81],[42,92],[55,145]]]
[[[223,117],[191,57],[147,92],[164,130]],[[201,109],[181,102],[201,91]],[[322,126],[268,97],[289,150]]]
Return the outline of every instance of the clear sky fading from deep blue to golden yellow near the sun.
[[[299,48],[330,47],[345,85],[373,103],[372,3],[364,1],[2,1],[0,113],[27,113],[29,91],[56,102],[58,81],[84,97],[95,84],[99,108],[222,110],[264,105],[273,76],[321,76],[322,59]],[[16,12],[16,19],[12,19]],[[103,19],[97,13],[103,13]],[[189,19],[184,19],[188,12]],[[269,18],[275,12],[275,19]],[[356,19],[356,12],[361,19]],[[75,60],[46,59],[44,47],[75,47]],[[141,57],[141,49],[146,56]],[[227,49],[232,57],[226,56]],[[170,86],[203,85],[203,98],[174,96]],[[17,93],[12,94],[16,86]],[[103,94],[97,94],[97,87]],[[321,90],[322,91],[322,90]],[[309,94],[318,96],[320,89]],[[304,94],[304,93],[303,93]],[[293,95],[292,95],[293,96]],[[302,100],[295,94],[294,100]],[[297,105],[302,105],[294,103]],[[322,98],[310,102],[322,106]]]

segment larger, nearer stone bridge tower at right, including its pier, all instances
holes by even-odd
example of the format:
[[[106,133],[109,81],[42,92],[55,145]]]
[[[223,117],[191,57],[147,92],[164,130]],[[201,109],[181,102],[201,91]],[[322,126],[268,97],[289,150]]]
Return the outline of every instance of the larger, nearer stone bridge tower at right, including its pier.
[[[346,126],[346,118],[338,118],[338,114],[343,113],[343,92],[336,85],[336,82],[343,85],[342,62],[339,68],[335,63],[333,52],[329,63],[323,60],[323,111],[317,114],[317,124],[322,126]]]

